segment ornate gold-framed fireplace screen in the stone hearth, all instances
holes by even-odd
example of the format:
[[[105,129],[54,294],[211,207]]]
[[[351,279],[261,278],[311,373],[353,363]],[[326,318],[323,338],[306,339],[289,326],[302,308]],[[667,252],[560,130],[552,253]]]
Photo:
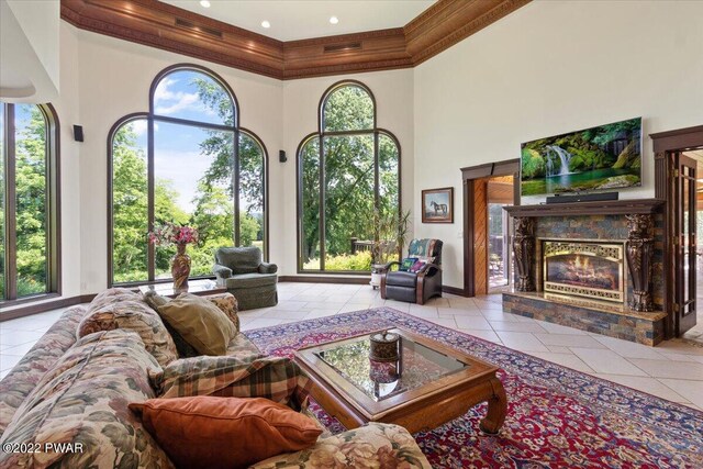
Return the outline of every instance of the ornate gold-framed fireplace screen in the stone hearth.
[[[544,291],[625,301],[623,245],[544,241]]]

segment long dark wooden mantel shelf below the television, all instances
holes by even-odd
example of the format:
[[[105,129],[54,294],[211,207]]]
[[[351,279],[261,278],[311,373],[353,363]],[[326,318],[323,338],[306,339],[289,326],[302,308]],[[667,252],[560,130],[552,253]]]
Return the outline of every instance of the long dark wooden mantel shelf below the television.
[[[599,202],[550,203],[538,205],[513,205],[504,210],[514,217],[565,216],[565,215],[634,215],[656,213],[661,199],[633,199]]]

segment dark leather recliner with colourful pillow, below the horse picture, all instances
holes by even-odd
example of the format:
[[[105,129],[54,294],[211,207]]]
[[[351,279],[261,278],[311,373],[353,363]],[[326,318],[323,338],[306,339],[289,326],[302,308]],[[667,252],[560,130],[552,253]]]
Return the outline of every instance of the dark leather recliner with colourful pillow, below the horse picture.
[[[381,277],[381,298],[425,304],[432,297],[442,297],[442,241],[413,239],[408,257],[417,257],[424,265],[417,271],[392,271],[390,263]]]

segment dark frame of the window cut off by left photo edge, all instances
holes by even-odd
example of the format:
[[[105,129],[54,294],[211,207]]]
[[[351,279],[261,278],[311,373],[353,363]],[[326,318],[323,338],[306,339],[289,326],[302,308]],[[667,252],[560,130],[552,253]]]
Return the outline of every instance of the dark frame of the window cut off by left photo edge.
[[[36,300],[57,298],[62,294],[60,243],[60,123],[56,109],[51,104],[33,104],[42,112],[45,122],[46,165],[46,291],[18,298],[16,269],[16,126],[15,103],[0,102],[4,108],[4,299],[0,306],[11,306]]]

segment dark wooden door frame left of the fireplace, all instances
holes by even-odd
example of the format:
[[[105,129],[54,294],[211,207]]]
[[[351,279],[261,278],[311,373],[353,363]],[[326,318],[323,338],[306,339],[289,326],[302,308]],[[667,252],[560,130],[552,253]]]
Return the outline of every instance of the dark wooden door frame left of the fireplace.
[[[464,181],[464,297],[476,297],[473,190],[477,179],[513,176],[513,203],[520,205],[520,158],[461,168]]]

